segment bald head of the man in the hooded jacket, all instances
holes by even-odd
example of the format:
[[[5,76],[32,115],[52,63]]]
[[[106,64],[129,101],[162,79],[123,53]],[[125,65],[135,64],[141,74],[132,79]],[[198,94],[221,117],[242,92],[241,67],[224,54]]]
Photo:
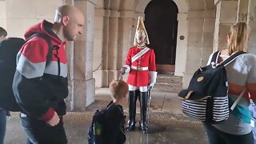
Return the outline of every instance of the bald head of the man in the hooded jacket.
[[[81,10],[75,6],[63,5],[56,10],[53,29],[58,31],[58,37],[63,41],[74,41],[82,34],[84,22]]]

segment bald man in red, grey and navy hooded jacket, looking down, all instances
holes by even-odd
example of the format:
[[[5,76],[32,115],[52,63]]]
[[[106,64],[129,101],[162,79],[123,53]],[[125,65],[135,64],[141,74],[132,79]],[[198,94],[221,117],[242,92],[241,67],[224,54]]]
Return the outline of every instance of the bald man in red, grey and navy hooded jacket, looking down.
[[[17,55],[13,90],[22,108],[27,143],[67,143],[62,122],[66,114],[64,98],[68,95],[64,48],[66,41],[74,41],[82,34],[84,21],[78,8],[64,5],[56,10],[54,23],[44,20],[26,31],[25,38],[29,40]],[[46,38],[30,38],[36,33],[50,38],[53,50]]]

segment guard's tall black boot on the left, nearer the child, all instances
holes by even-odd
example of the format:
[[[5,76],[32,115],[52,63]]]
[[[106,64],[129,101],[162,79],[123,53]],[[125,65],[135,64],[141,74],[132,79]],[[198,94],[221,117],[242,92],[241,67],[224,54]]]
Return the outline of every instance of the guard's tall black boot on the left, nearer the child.
[[[136,115],[136,101],[138,98],[138,94],[136,94],[136,90],[129,90],[129,121],[126,126],[126,130],[135,130],[135,115]]]

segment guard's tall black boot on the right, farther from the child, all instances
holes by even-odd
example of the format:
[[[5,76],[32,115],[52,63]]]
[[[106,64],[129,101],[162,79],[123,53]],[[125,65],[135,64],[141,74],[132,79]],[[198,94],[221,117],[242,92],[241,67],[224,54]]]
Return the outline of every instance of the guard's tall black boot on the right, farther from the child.
[[[148,109],[148,95],[147,92],[141,92],[140,94],[140,105],[141,105],[141,122],[140,122],[140,129],[144,134],[148,131],[147,126],[147,109]]]

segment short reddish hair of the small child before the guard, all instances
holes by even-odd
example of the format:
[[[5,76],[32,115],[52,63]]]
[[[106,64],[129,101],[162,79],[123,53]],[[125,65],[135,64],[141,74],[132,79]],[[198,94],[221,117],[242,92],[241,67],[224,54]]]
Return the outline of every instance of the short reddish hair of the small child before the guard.
[[[122,80],[114,80],[110,83],[111,98],[118,99],[128,92],[128,85]]]

